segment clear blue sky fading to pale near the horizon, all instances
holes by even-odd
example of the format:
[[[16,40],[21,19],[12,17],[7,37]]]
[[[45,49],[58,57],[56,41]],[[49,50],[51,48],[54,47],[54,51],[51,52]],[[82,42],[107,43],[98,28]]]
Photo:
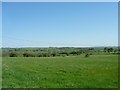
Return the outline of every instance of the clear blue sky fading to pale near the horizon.
[[[117,2],[4,2],[3,47],[118,45]]]

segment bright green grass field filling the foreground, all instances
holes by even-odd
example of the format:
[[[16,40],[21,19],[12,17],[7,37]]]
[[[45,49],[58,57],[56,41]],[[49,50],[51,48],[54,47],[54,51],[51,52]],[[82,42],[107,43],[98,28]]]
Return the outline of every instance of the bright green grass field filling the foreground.
[[[118,57],[4,57],[3,88],[117,88]]]

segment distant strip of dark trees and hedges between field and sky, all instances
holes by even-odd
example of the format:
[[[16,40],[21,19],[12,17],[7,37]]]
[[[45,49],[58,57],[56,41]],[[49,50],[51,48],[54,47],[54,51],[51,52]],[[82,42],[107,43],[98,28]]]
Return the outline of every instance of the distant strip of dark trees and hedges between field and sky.
[[[118,54],[118,47],[96,47],[96,48],[75,48],[75,47],[49,47],[49,48],[3,48],[2,56],[9,57],[9,53],[17,53],[18,57],[56,57],[56,56],[77,56],[89,53],[96,54]],[[24,53],[23,53],[24,52]]]

